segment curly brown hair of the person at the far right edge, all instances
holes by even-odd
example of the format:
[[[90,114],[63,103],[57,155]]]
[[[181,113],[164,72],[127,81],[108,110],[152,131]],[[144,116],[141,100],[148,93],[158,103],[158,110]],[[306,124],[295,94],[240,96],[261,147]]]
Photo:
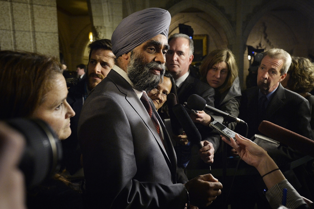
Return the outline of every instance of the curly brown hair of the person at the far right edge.
[[[310,92],[314,88],[314,64],[305,57],[291,58],[287,87],[296,93]]]

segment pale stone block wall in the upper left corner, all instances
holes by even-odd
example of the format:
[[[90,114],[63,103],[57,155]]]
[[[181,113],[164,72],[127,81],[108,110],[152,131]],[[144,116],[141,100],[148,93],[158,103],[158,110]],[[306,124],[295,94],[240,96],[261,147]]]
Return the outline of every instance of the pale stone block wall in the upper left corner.
[[[0,50],[59,57],[55,0],[0,0]]]

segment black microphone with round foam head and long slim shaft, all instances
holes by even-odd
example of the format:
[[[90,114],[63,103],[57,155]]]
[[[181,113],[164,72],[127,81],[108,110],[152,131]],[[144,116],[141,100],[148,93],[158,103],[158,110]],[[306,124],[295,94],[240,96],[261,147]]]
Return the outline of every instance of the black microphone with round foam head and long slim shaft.
[[[227,119],[228,122],[246,124],[246,122],[242,121],[240,118],[237,118],[234,115],[225,113],[224,111],[218,110],[214,107],[207,105],[206,100],[197,94],[192,94],[191,96],[189,96],[189,98],[187,99],[186,107],[190,110],[198,110],[198,111],[207,109],[217,115],[223,116],[225,119]]]

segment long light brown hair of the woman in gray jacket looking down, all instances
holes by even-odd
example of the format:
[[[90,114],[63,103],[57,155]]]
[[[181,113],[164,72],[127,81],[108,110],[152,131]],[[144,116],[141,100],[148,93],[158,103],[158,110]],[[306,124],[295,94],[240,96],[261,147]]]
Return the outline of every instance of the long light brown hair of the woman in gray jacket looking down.
[[[225,62],[228,67],[228,75],[224,84],[219,87],[219,92],[223,93],[229,89],[238,77],[238,66],[236,57],[229,49],[216,49],[210,52],[200,66],[201,80],[207,83],[207,72],[219,62]]]

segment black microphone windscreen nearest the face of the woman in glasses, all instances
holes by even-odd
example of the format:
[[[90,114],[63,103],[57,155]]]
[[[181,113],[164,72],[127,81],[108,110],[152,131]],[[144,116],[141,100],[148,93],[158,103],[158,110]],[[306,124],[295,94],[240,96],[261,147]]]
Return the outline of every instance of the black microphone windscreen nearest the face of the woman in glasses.
[[[167,105],[168,105],[168,112],[170,116],[171,129],[172,129],[173,134],[178,136],[182,134],[183,128],[172,110],[173,106],[175,106],[176,104],[177,104],[176,95],[173,93],[169,93],[167,95]]]

